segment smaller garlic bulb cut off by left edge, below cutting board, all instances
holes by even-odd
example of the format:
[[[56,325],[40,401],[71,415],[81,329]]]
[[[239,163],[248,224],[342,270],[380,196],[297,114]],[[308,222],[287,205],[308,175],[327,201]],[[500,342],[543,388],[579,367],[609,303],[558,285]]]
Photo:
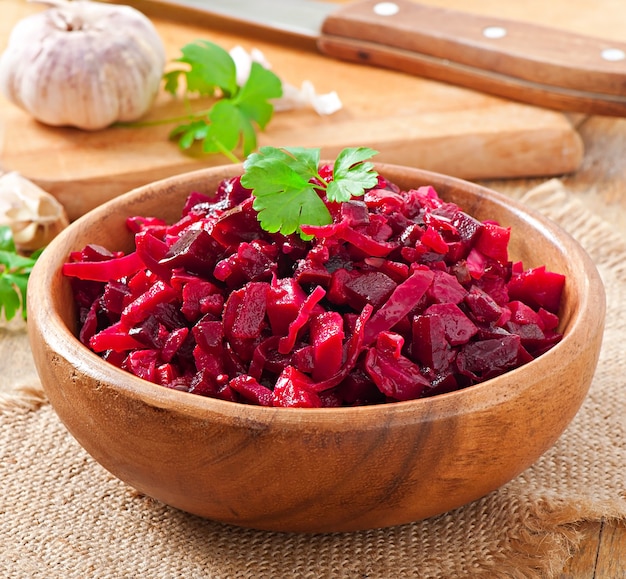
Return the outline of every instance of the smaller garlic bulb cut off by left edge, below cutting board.
[[[48,245],[68,219],[52,195],[12,171],[0,174],[0,225],[11,228],[19,251],[30,252]]]

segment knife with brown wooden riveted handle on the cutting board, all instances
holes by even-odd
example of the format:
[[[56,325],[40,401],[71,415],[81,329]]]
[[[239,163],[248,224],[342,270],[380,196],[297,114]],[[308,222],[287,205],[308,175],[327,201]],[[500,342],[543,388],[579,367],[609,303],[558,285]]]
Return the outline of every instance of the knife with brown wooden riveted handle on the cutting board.
[[[167,0],[314,38],[320,52],[533,105],[626,116],[626,43],[411,0]]]

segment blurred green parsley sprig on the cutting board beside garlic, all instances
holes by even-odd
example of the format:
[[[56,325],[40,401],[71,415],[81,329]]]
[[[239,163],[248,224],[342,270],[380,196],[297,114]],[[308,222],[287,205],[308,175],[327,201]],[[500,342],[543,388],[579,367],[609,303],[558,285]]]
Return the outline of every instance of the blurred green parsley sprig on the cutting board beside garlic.
[[[148,126],[181,123],[170,138],[186,150],[199,142],[205,153],[222,153],[239,162],[235,151],[246,156],[257,148],[257,128],[265,129],[274,113],[272,99],[282,96],[281,80],[270,70],[253,62],[248,80],[237,84],[237,69],[230,54],[212,42],[196,40],[183,46],[176,67],[163,75],[165,90],[178,96],[180,89],[188,114],[169,119],[128,123]],[[181,82],[183,81],[183,82]],[[191,96],[212,97],[215,102],[201,111],[191,110]]]

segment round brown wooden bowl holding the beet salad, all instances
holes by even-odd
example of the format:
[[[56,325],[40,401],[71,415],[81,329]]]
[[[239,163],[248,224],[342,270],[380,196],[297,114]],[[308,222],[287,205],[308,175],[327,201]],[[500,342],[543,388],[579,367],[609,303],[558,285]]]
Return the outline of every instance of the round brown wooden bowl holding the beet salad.
[[[180,175],[80,218],[49,245],[30,278],[28,328],[41,381],[95,460],[140,492],[202,517],[327,532],[397,525],[459,507],[511,480],[554,444],[597,365],[605,296],[594,264],[559,227],[502,195],[417,169],[378,170],[403,188],[433,185],[475,217],[510,226],[513,258],[563,273],[564,339],[480,385],[368,407],[256,407],[143,381],[80,344],[61,265],[87,243],[129,250],[126,216],[175,221],[190,191],[213,192],[241,166]]]

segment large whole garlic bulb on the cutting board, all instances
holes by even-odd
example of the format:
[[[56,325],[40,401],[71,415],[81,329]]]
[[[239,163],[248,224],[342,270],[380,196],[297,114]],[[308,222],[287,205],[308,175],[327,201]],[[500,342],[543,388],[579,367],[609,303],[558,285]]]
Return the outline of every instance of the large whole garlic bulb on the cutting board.
[[[158,92],[165,48],[130,6],[44,0],[19,21],[0,58],[0,90],[42,123],[102,129],[145,114]]]

